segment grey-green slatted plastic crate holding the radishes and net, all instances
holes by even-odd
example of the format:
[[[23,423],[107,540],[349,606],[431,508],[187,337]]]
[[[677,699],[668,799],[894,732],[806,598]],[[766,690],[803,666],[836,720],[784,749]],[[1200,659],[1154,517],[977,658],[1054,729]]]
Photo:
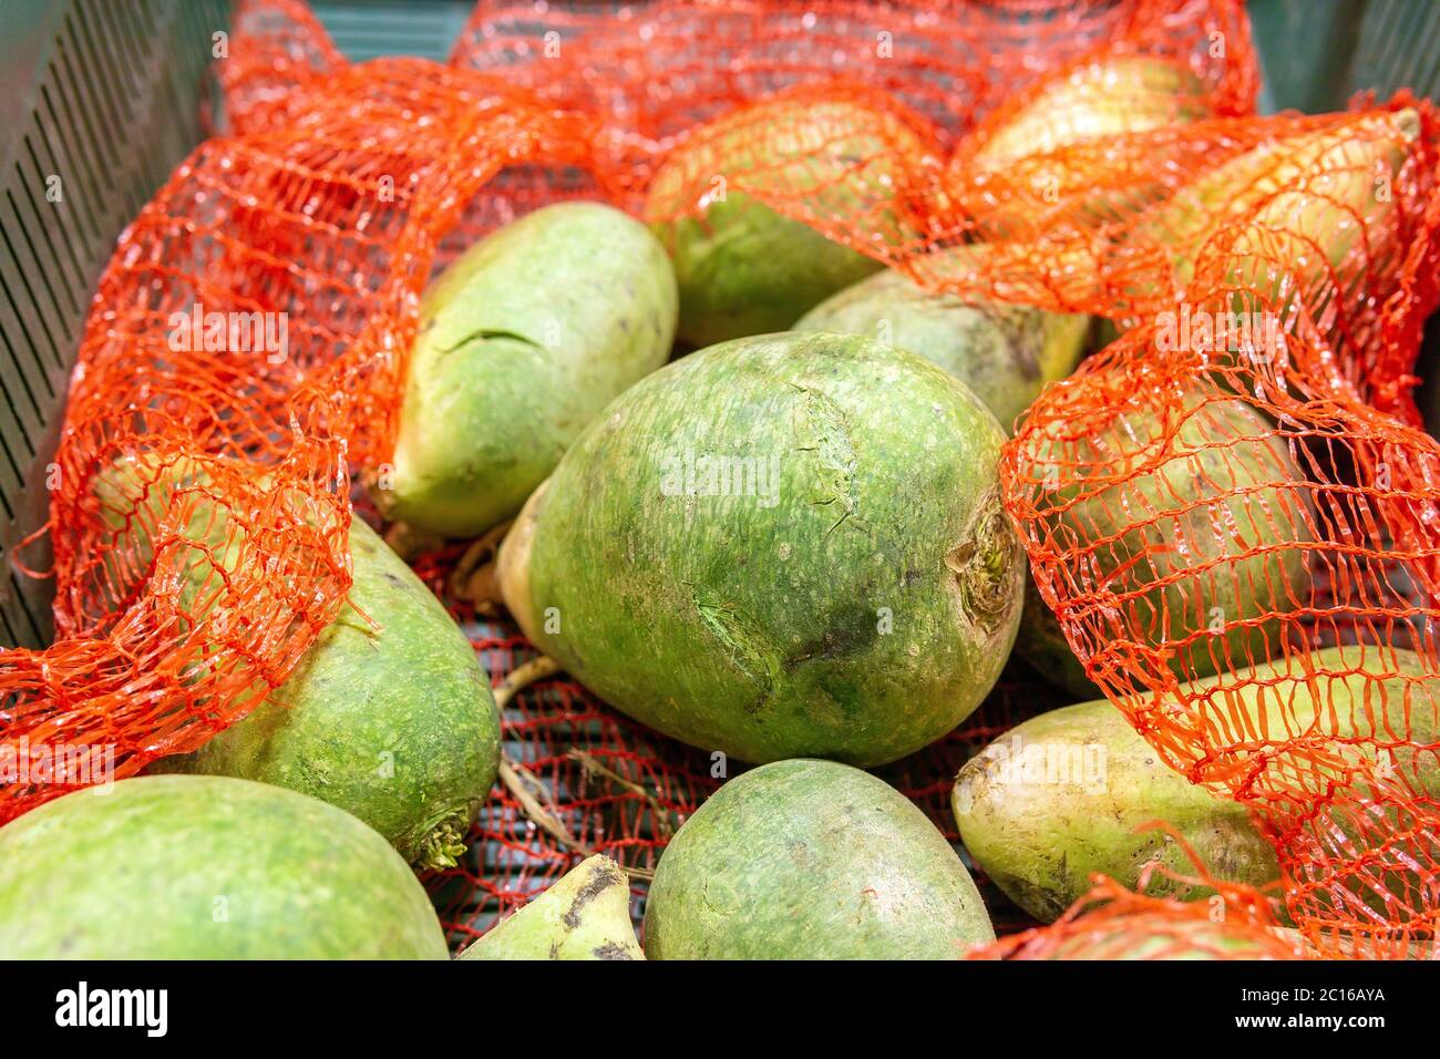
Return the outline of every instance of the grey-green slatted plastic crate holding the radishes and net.
[[[213,35],[229,26],[228,0],[6,0],[17,17],[0,37],[0,644],[43,645],[50,638],[49,582],[17,565],[45,569],[45,540],[16,555],[16,546],[48,517],[46,477],[63,418],[65,389],[89,310],[89,294],[109,258],[115,236],[158,187],[167,173],[206,134],[210,112],[209,63]],[[639,0],[642,3],[642,0]],[[636,4],[638,6],[638,4]],[[445,61],[469,17],[472,0],[312,0],[311,7],[351,61],[380,55],[416,55]],[[7,13],[9,13],[7,12]],[[1362,88],[1381,95],[1401,85],[1440,92],[1440,9],[1433,0],[1254,0],[1266,110],[1322,111],[1342,107]],[[60,174],[60,196],[46,197],[49,177]],[[488,671],[501,677],[518,661],[508,631],[467,625],[482,647]],[[567,706],[570,692],[549,689],[536,697]],[[1024,705],[1017,705],[1025,699]],[[1004,689],[966,725],[965,733],[926,751],[923,768],[901,762],[887,771],[897,787],[926,805],[945,827],[946,784],[976,745],[998,735],[1044,703],[1024,689],[1011,702]],[[583,723],[582,723],[583,722]],[[544,742],[554,754],[600,745],[611,736],[583,710],[543,719],[521,706],[505,715],[505,751],[514,761],[536,764]],[[613,723],[605,720],[605,725]],[[622,725],[625,722],[621,722]],[[539,736],[517,736],[534,726]],[[572,728],[575,730],[572,730]],[[631,736],[644,755],[662,759],[675,775],[694,777],[693,797],[704,771],[684,748],[651,745]],[[976,742],[978,741],[978,742]],[[644,756],[642,755],[642,756]],[[693,756],[693,755],[690,755]],[[917,758],[922,755],[917,755]],[[688,782],[688,779],[687,779]],[[573,792],[556,791],[557,797]],[[507,902],[518,903],[540,889],[543,857],[530,850],[524,823],[504,805],[487,807],[464,870],[433,896],[452,939],[482,928],[497,903],[475,903],[478,880],[504,879]],[[644,820],[619,824],[636,841],[655,836]],[[955,837],[953,834],[950,836]],[[454,893],[451,893],[454,890]],[[986,903],[1005,928],[1025,925],[1007,909],[998,892]],[[451,903],[454,899],[454,903]],[[1005,919],[1005,916],[1009,916]]]

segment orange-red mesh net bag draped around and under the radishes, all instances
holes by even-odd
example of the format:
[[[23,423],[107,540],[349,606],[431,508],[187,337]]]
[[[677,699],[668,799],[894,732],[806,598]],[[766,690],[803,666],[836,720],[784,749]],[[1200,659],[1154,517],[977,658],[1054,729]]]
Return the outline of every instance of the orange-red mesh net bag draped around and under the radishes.
[[[444,66],[347,63],[298,0],[249,0],[228,43],[232,133],[176,170],[96,292],[48,527],[59,634],[0,658],[7,745],[105,745],[124,777],[243,718],[346,595],[353,481],[390,455],[429,277],[536,206],[665,220],[720,176],[932,290],[1116,321],[1001,467],[1045,605],[1166,762],[1253,807],[1305,941],[1286,951],[1401,955],[1433,929],[1440,468],[1410,402],[1436,301],[1427,104],[1253,117],[1238,0],[484,3]],[[1047,95],[1103,102],[1087,78],[1135,56],[1171,101],[1133,131]],[[865,148],[714,171],[717,130],[793,144],[816,102],[865,115]],[[675,193],[647,203],[665,163]],[[282,354],[206,349],[197,307],[284,320]],[[1241,311],[1267,340],[1217,343]],[[418,568],[444,589],[455,556]],[[494,679],[526,657],[456,617]],[[887,778],[953,837],[959,762],[1051,703],[1004,682]],[[504,732],[510,781],[431,880],[456,944],[589,852],[641,896],[719,782],[567,682],[513,700]],[[0,820],[65,781],[4,787]],[[1096,916],[1197,915],[1099,896],[984,955],[1103,954]],[[1273,939],[1263,898],[1225,908]]]

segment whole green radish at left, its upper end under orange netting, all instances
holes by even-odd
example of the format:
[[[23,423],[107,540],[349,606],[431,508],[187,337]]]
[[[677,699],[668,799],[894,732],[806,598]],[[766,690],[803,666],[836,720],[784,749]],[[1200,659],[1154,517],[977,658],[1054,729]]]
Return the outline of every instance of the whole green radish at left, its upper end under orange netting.
[[[246,530],[194,461],[118,461],[95,477],[105,520],[144,569],[156,526],[186,516],[166,549],[193,618],[223,604]],[[418,869],[451,867],[490,797],[500,720],[490,680],[449,614],[374,532],[350,523],[353,584],[340,615],[289,677],[193,754],[151,771],[204,772],[289,787],[353,813]],[[192,676],[200,676],[193,671]]]

